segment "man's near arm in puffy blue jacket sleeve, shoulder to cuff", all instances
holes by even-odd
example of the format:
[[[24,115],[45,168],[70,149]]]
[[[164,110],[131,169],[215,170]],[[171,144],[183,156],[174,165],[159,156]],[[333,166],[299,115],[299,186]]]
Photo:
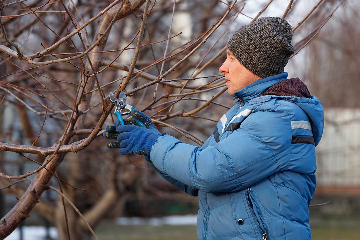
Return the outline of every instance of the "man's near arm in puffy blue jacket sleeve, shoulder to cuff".
[[[249,187],[289,161],[291,121],[284,109],[273,108],[253,112],[230,136],[204,149],[161,136],[150,160],[159,171],[204,192]]]

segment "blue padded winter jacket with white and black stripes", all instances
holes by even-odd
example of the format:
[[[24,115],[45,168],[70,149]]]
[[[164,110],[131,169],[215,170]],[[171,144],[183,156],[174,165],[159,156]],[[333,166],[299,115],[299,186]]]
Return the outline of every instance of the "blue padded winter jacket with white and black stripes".
[[[158,172],[199,196],[199,239],[311,239],[324,111],[300,79],[287,76],[235,92],[237,103],[201,148],[170,135],[152,146]]]

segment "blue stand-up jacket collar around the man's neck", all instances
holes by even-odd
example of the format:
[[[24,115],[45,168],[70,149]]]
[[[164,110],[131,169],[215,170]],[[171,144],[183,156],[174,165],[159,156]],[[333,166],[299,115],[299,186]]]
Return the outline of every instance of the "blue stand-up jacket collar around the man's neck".
[[[287,77],[288,73],[283,72],[274,76],[256,80],[255,82],[247,85],[246,87],[236,91],[233,100],[238,99],[237,101],[242,100],[246,103],[247,101],[263,94],[267,89],[269,89],[269,87],[273,86],[275,83],[287,79]]]

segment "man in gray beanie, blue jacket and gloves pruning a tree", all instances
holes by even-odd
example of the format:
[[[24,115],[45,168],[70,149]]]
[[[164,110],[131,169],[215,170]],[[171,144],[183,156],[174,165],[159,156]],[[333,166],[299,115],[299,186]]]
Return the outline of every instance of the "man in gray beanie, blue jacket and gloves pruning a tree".
[[[324,112],[299,78],[287,79],[291,39],[291,26],[278,17],[230,38],[219,71],[236,104],[201,148],[161,134],[137,111],[148,129],[133,120],[107,127],[120,154],[145,155],[169,182],[199,196],[199,239],[311,239]]]

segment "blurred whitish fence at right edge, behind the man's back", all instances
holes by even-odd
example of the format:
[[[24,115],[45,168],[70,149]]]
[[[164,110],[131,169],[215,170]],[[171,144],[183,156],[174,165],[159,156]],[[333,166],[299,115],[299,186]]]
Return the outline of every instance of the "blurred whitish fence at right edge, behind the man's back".
[[[360,109],[325,109],[323,137],[316,147],[318,185],[360,186]]]

